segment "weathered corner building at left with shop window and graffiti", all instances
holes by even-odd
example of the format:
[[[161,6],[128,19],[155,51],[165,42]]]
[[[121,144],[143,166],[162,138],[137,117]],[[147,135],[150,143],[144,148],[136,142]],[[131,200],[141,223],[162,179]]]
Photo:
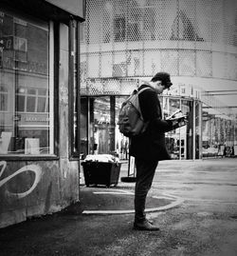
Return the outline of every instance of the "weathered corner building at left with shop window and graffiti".
[[[0,227],[79,200],[84,10],[83,0],[0,1]]]

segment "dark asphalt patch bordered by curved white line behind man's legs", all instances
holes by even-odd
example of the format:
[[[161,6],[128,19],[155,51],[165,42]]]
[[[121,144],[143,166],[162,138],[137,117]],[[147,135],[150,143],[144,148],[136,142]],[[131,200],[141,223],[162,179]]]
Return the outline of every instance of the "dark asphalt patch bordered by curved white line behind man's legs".
[[[117,187],[85,187],[83,171],[80,187],[80,212],[82,214],[124,214],[134,213],[135,183],[121,182],[121,177],[128,176],[128,163],[123,162],[120,168]],[[173,197],[148,196],[146,211],[158,211],[175,207],[179,204]],[[68,210],[70,207],[68,207]]]

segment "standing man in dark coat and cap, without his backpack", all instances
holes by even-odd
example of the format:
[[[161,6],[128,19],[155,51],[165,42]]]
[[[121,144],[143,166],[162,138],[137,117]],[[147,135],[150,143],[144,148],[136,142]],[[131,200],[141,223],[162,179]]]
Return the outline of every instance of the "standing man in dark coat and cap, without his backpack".
[[[146,219],[144,211],[147,193],[152,186],[158,161],[171,159],[165,145],[165,132],[172,130],[174,124],[172,121],[162,120],[157,94],[172,85],[169,73],[158,72],[151,82],[144,83],[139,88],[149,89],[143,90],[138,95],[141,114],[144,121],[148,122],[148,127],[142,134],[131,138],[129,151],[130,155],[135,157],[137,167],[134,228],[138,230],[159,229]]]

